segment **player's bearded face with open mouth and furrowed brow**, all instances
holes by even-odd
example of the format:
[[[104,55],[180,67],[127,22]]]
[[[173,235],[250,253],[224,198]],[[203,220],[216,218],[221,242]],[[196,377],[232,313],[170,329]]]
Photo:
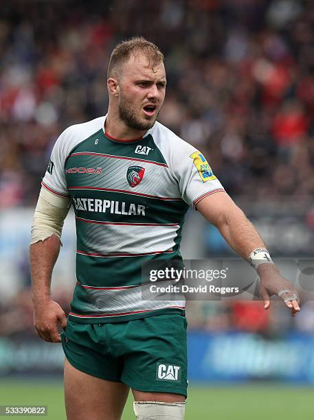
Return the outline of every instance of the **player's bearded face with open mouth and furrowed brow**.
[[[157,119],[166,93],[164,63],[148,67],[148,59],[131,55],[120,79],[119,114],[126,126],[148,130]]]

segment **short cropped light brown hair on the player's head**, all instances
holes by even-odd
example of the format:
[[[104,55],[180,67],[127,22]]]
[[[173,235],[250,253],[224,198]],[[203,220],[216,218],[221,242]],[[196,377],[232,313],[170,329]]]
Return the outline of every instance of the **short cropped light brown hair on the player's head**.
[[[142,36],[122,41],[111,53],[107,78],[117,78],[122,73],[122,65],[130,58],[131,54],[144,54],[148,58],[148,66],[153,67],[159,62],[164,62],[164,54],[154,43]]]

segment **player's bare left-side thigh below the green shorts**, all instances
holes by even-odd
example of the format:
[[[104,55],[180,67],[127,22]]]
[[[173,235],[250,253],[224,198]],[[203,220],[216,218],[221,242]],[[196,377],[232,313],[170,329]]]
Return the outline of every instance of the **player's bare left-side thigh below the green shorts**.
[[[65,410],[68,420],[120,420],[128,386],[88,375],[65,360]]]

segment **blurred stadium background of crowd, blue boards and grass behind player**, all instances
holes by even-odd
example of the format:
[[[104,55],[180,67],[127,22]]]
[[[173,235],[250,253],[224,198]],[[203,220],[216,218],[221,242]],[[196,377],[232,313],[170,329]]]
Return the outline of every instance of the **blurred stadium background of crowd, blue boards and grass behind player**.
[[[52,145],[106,112],[113,46],[141,34],[166,55],[159,121],[208,156],[271,254],[307,259],[314,243],[314,4],[298,0],[12,0],[0,11],[0,404],[48,404],[65,418],[60,346],[32,327],[32,212]],[[54,272],[74,288],[74,222]],[[197,213],[183,255],[233,255]],[[302,312],[256,301],[188,303],[187,419],[312,419],[313,269]],[[133,418],[128,406],[124,419]]]

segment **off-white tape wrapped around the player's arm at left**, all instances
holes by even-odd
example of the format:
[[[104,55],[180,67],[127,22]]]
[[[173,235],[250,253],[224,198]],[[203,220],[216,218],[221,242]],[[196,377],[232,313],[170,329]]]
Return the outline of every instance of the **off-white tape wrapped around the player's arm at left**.
[[[31,244],[44,241],[47,237],[56,235],[59,240],[63,229],[63,222],[69,212],[71,200],[59,197],[41,187],[36,205],[31,234]]]

